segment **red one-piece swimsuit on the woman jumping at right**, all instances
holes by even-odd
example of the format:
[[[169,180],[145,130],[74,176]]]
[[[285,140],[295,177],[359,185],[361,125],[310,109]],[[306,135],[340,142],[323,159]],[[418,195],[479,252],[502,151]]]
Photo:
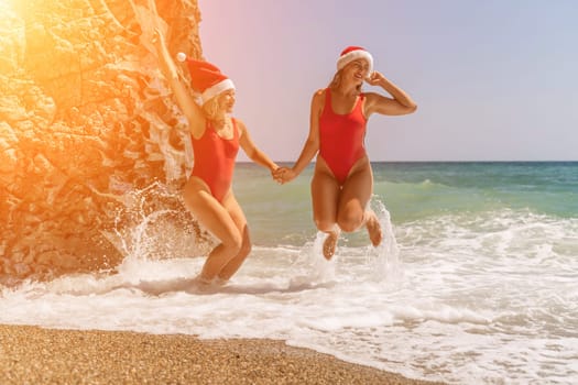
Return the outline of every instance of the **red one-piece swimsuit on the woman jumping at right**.
[[[351,112],[338,114],[331,107],[329,88],[325,94],[325,107],[319,119],[319,155],[340,185],[346,182],[353,164],[366,155],[363,98],[361,94]]]

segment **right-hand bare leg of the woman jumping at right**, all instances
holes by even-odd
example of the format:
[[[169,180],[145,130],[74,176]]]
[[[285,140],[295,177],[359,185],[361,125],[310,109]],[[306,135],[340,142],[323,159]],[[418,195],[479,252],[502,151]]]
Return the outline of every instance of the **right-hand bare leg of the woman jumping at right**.
[[[348,176],[341,190],[337,223],[341,230],[352,232],[366,226],[371,243],[381,243],[382,232],[378,217],[369,209],[373,191],[373,174],[369,162],[361,162]]]

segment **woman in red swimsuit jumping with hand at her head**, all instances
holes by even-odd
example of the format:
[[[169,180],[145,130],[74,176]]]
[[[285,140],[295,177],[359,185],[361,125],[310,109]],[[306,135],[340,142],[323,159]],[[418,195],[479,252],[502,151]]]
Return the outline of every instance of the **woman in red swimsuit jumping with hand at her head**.
[[[362,92],[367,81],[383,88],[393,98]],[[400,116],[412,113],[416,103],[382,74],[373,72],[373,58],[362,47],[343,50],[337,73],[325,89],[312,100],[309,135],[292,168],[280,168],[275,177],[283,183],[295,178],[315,155],[312,179],[313,217],[319,231],[328,234],[324,255],[331,258],[340,231],[352,232],[364,226],[374,246],[382,233],[375,213],[369,208],[373,175],[363,140],[373,113]]]

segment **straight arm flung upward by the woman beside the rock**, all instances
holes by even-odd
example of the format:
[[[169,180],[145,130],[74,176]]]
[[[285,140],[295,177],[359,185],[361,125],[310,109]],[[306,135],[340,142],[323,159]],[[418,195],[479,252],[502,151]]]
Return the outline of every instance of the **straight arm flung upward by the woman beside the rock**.
[[[175,62],[171,57],[165,38],[159,29],[154,31],[153,43],[161,61],[161,70],[171,85],[178,107],[188,120],[190,132],[198,138],[205,130],[205,114],[178,76]]]

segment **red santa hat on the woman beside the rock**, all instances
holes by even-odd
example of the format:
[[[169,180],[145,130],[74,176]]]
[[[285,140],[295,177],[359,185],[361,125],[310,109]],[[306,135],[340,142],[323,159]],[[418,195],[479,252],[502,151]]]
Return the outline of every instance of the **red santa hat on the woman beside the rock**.
[[[190,74],[190,85],[194,90],[200,94],[203,103],[212,99],[217,95],[235,89],[235,84],[215,65],[208,62],[195,61],[179,52],[176,55],[178,62],[186,62]]]

